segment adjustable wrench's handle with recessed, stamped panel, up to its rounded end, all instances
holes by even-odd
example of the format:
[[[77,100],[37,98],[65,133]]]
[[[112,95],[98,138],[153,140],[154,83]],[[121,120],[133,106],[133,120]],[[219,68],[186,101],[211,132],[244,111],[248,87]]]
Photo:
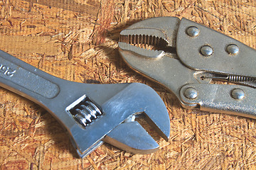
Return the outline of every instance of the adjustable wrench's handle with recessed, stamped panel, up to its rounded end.
[[[41,101],[58,95],[60,88],[53,82],[55,78],[0,50],[0,86],[5,89]]]

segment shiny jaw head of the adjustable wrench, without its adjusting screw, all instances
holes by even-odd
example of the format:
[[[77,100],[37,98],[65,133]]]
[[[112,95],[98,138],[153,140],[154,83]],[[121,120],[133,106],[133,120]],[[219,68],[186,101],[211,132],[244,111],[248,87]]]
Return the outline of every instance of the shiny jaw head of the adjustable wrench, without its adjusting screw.
[[[169,139],[169,113],[160,96],[149,86],[139,83],[94,84],[89,89],[95,93],[88,91],[87,95],[97,103],[102,115],[85,128],[78,123],[70,128],[73,144],[80,157],[90,154],[103,141],[133,153],[156,151],[159,148],[157,143],[133,120],[137,114],[145,115],[149,125],[164,140]]]

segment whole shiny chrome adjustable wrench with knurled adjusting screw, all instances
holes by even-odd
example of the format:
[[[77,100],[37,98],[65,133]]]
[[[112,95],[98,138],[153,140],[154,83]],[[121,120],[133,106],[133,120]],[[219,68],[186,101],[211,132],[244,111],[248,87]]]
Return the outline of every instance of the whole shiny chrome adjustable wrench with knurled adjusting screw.
[[[0,50],[0,86],[38,103],[67,130],[80,157],[107,142],[147,154],[159,145],[135,118],[168,140],[169,113],[145,84],[82,84],[53,77]]]

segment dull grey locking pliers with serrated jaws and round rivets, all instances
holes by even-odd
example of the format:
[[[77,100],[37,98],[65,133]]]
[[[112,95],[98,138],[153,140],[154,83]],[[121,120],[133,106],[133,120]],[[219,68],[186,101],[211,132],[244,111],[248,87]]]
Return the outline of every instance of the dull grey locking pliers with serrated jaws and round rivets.
[[[122,30],[119,52],[185,108],[256,118],[256,51],[238,40],[186,18],[149,18]]]

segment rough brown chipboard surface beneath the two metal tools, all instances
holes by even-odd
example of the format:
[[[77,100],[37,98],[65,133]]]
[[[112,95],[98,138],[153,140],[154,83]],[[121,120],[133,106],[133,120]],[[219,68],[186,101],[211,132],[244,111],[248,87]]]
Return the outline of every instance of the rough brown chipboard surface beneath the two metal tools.
[[[148,84],[163,98],[171,119],[170,141],[155,137],[159,152],[130,154],[102,145],[79,159],[49,113],[0,88],[0,169],[256,169],[256,120],[183,109],[166,89],[129,69],[117,52],[120,30],[155,16],[186,17],[256,48],[256,1],[1,0],[0,4],[1,50],[70,81]]]

